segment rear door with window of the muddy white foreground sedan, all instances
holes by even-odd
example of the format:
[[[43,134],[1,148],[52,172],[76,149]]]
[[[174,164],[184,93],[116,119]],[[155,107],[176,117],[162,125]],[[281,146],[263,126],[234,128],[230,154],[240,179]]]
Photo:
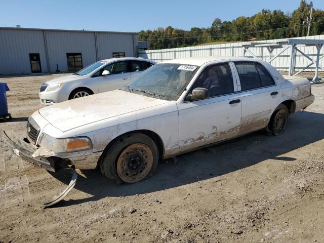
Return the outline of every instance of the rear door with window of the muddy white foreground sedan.
[[[280,98],[280,88],[270,72],[259,62],[234,62],[242,99],[239,134],[250,133],[267,126]]]

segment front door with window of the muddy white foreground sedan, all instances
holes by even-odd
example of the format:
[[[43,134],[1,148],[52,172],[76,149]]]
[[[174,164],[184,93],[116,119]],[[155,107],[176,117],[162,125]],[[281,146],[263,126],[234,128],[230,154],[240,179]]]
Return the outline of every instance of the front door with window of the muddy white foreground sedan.
[[[241,119],[241,98],[233,78],[232,64],[207,66],[195,81],[195,88],[209,90],[209,98],[178,101],[180,151],[235,137]]]

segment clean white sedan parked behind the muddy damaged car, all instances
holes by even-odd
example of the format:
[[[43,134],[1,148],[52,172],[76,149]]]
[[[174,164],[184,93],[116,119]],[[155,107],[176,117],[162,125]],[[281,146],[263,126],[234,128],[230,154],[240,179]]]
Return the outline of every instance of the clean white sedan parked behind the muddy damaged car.
[[[73,74],[49,80],[39,88],[44,105],[123,88],[154,61],[143,58],[111,58],[95,62]]]

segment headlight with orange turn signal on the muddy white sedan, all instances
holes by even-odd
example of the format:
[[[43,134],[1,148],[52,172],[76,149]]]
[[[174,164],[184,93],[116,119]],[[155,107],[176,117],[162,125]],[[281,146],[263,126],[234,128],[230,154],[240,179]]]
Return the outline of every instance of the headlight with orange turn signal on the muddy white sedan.
[[[87,137],[53,138],[46,133],[39,137],[39,146],[54,153],[66,153],[92,149],[92,142]]]

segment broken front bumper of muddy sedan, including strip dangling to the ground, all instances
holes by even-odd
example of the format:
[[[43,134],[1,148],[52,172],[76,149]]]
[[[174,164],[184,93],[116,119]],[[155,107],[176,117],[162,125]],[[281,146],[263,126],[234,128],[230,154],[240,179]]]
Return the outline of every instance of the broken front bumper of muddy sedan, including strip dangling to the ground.
[[[55,156],[48,158],[42,156],[33,157],[32,154],[37,150],[37,148],[35,148],[30,143],[26,143],[25,141],[21,140],[12,130],[5,131],[4,138],[15,154],[35,166],[39,166],[53,172],[56,172],[61,168],[68,168],[67,161],[62,158]],[[43,205],[43,207],[47,208],[59,203],[75,186],[77,174],[74,169],[69,171],[72,172],[72,178],[67,188],[65,188],[65,190],[62,191],[59,195],[53,196],[47,203]]]

